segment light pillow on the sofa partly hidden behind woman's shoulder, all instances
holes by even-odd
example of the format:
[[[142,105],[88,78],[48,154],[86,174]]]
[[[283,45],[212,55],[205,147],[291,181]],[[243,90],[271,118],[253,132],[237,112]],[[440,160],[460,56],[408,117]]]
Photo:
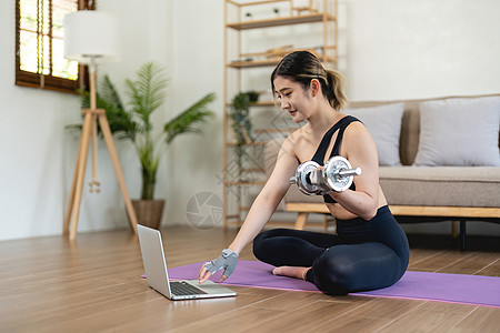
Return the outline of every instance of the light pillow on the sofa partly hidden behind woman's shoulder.
[[[401,165],[399,137],[403,111],[404,103],[346,110],[367,127],[377,145],[379,165]]]

